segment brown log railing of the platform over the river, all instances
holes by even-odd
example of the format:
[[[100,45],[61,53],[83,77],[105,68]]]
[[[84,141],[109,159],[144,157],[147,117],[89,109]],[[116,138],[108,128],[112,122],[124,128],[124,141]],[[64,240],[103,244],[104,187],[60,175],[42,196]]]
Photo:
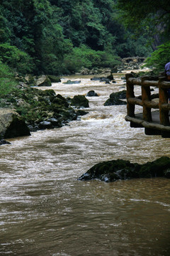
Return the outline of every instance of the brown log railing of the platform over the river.
[[[127,85],[127,112],[126,121],[131,127],[145,127],[145,134],[162,134],[162,137],[170,137],[170,122],[168,103],[168,92],[170,81],[165,77],[140,77],[134,78],[132,74],[126,75]],[[142,97],[135,97],[134,86],[142,87]],[[151,95],[150,87],[159,88],[159,102],[154,102],[154,95]],[[142,106],[142,118],[135,114],[135,105]],[[152,109],[159,110],[157,122],[153,122]]]

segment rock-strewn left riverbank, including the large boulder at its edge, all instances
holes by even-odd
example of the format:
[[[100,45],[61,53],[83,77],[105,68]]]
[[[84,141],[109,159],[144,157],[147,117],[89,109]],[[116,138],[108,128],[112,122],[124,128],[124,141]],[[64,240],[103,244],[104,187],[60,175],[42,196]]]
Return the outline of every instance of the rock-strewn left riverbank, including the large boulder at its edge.
[[[54,90],[38,90],[19,82],[16,90],[1,96],[0,139],[30,135],[30,132],[39,129],[62,127],[79,115],[86,114],[77,108],[88,106],[89,101],[84,95],[64,98],[56,95]]]

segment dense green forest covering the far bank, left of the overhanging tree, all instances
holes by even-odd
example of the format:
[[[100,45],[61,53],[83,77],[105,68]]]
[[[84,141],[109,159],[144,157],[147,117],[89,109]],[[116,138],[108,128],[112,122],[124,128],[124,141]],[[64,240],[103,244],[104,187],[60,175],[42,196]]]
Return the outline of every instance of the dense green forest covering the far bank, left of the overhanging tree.
[[[132,38],[114,0],[1,0],[0,60],[18,73],[59,75],[113,67],[147,56],[147,38]]]

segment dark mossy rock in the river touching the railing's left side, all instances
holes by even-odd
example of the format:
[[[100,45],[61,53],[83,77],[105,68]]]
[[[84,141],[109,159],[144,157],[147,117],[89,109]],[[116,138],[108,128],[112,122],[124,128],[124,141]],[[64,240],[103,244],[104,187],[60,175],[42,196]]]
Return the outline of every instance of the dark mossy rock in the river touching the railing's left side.
[[[124,102],[120,99],[126,99],[126,90],[111,93],[110,98],[106,100],[106,102],[104,103],[104,106],[127,104],[127,102]]]

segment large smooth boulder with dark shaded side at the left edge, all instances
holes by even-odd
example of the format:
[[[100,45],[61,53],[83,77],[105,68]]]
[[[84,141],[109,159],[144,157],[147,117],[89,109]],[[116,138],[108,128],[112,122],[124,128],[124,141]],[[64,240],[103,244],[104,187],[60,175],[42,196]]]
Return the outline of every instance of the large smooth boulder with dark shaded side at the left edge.
[[[14,110],[0,108],[0,139],[30,135],[30,130]]]

